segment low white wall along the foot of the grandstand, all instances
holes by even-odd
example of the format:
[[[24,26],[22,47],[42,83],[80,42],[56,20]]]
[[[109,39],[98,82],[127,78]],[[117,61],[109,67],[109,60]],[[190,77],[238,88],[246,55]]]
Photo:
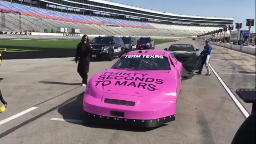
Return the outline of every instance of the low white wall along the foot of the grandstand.
[[[17,35],[35,35],[35,36],[66,36],[66,37],[82,37],[84,34],[66,34],[66,33],[43,33],[43,32],[12,32],[12,31],[0,31],[0,34],[17,34]],[[101,35],[88,35],[89,38],[98,37]],[[140,38],[141,36],[132,36]],[[197,36],[192,37],[157,37],[150,36],[151,38],[160,38],[160,39],[169,39],[169,38],[196,38]]]

